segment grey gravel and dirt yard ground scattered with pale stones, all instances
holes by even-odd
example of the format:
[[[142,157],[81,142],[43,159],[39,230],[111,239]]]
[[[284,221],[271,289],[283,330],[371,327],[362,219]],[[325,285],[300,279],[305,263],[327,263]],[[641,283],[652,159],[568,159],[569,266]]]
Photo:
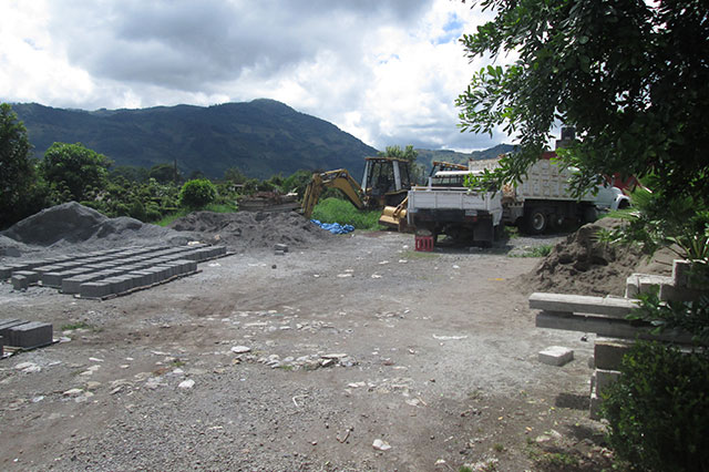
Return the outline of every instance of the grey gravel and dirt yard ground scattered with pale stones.
[[[0,285],[2,318],[65,337],[0,361],[0,469],[605,464],[586,409],[593,337],[535,328],[515,281],[538,259],[412,239],[236,254],[107,301]],[[540,363],[553,345],[576,359]]]

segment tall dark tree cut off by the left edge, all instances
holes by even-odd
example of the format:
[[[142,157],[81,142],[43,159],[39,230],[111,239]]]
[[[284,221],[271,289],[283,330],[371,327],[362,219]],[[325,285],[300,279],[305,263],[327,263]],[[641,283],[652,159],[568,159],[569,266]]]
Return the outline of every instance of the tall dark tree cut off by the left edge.
[[[30,152],[24,124],[9,104],[0,103],[0,228],[40,209]]]

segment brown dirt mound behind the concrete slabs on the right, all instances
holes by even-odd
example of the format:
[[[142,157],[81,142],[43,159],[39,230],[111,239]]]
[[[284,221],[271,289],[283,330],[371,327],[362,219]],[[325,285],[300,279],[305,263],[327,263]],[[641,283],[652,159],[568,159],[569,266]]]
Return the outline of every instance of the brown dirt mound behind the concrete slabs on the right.
[[[524,288],[530,291],[623,296],[626,278],[638,271],[638,266],[647,257],[634,247],[608,246],[596,240],[598,229],[612,229],[619,224],[617,219],[604,218],[582,226],[541,260],[523,280]]]

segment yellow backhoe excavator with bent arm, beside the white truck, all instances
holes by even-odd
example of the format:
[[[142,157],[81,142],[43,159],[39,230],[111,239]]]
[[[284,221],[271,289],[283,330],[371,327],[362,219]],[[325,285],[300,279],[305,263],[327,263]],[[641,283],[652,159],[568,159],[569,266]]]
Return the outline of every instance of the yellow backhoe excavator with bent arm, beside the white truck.
[[[364,175],[360,185],[345,168],[312,174],[302,195],[301,211],[310,218],[312,208],[326,188],[337,188],[359,209],[399,207],[411,188],[409,161],[391,157],[366,157]],[[404,204],[405,205],[405,204]],[[404,206],[405,207],[405,206]],[[401,228],[404,219],[382,214],[380,223]]]

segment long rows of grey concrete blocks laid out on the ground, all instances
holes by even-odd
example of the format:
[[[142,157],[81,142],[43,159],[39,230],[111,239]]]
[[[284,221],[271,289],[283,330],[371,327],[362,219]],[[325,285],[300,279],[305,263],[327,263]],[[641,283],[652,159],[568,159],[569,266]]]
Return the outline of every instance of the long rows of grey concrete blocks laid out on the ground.
[[[104,298],[194,274],[197,263],[226,255],[220,246],[131,247],[0,266],[14,289],[31,284],[83,298]]]

